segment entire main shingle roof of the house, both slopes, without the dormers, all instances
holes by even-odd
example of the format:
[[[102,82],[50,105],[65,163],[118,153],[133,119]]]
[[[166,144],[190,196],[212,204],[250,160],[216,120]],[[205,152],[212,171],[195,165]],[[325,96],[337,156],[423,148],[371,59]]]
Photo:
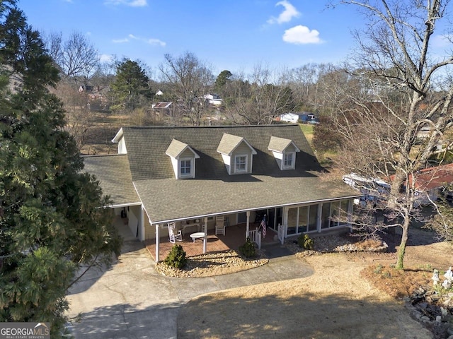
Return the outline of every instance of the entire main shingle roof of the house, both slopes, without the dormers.
[[[227,173],[217,152],[225,133],[244,138],[256,150],[251,174]],[[132,179],[151,222],[357,196],[347,185],[319,179],[323,169],[298,125],[125,127],[123,136]],[[301,150],[295,169],[280,170],[268,150],[273,136]],[[200,155],[195,179],[175,179],[166,155],[173,139]]]

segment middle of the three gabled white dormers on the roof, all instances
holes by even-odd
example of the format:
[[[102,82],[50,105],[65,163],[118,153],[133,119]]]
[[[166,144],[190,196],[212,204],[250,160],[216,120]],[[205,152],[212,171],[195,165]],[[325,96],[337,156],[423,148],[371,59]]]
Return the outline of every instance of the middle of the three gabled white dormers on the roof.
[[[256,155],[256,150],[245,138],[224,133],[217,152],[222,155],[228,174],[252,172],[253,155]]]

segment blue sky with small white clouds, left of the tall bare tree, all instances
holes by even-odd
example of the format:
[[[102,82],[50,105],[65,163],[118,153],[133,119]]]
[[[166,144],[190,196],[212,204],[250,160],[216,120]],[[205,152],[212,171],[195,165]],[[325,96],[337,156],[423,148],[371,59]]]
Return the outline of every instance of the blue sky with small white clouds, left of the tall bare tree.
[[[355,8],[321,0],[19,0],[41,32],[87,35],[112,55],[156,69],[164,54],[193,52],[214,75],[264,64],[271,69],[342,61],[362,25]]]

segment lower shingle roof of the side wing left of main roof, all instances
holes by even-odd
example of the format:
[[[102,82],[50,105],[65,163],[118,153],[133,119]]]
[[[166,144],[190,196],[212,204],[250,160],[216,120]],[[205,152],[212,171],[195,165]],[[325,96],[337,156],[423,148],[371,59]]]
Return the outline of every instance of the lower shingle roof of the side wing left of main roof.
[[[88,155],[83,159],[84,171],[96,176],[103,194],[110,196],[114,205],[140,203],[132,184],[127,155]]]

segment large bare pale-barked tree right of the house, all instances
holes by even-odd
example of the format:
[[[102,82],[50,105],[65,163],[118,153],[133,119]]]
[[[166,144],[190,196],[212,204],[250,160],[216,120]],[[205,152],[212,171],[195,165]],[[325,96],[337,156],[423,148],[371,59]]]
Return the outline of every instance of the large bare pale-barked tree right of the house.
[[[418,218],[415,178],[434,153],[442,152],[435,146],[453,121],[453,57],[432,51],[449,1],[339,2],[360,8],[369,23],[355,34],[360,52],[351,68],[362,90],[340,88],[348,105],[337,105],[332,114],[345,148],[340,165],[364,177],[392,176],[386,207],[391,225],[402,229],[396,263],[401,269],[411,219]],[[426,126],[430,133],[418,143]]]

